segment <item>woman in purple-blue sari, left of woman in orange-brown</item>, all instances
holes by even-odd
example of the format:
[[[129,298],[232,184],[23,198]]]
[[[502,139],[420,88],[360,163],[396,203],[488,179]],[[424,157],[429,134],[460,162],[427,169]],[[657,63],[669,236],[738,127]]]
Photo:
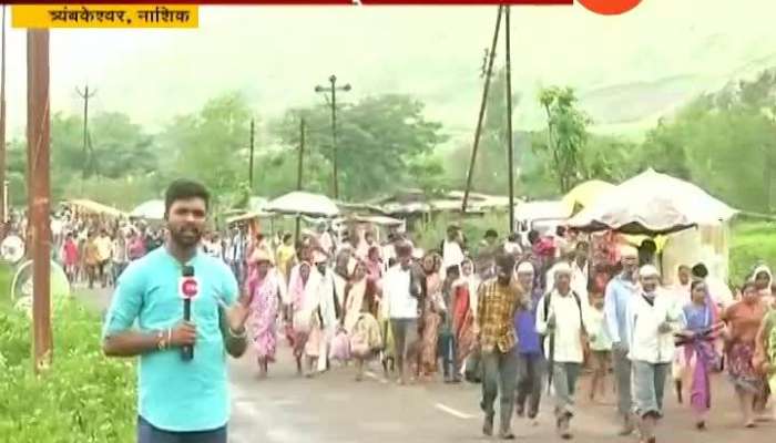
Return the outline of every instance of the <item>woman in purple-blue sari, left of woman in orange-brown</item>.
[[[709,375],[719,367],[719,356],[714,349],[714,339],[722,323],[717,321],[716,305],[708,296],[702,280],[690,288],[691,302],[683,308],[684,329],[677,333],[681,344],[681,370],[683,385],[690,389],[690,405],[695,413],[695,427],[706,427],[706,414],[712,406]]]

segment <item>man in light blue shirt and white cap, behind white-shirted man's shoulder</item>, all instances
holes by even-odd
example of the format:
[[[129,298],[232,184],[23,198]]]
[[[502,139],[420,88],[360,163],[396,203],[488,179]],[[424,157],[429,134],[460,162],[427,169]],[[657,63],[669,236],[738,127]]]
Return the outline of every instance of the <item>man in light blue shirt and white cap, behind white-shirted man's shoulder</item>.
[[[624,246],[620,250],[622,271],[606,284],[604,291],[604,320],[606,331],[612,339],[612,360],[617,383],[617,411],[622,418],[620,435],[630,435],[634,431],[631,410],[631,361],[627,359],[627,305],[639,295],[636,271],[639,251]]]

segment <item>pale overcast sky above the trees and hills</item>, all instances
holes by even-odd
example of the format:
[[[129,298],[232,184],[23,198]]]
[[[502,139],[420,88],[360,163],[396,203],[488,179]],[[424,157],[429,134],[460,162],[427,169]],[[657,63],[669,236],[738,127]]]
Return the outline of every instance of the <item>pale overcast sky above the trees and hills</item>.
[[[542,84],[584,92],[674,75],[724,78],[776,55],[774,12],[772,0],[644,0],[622,17],[514,7],[514,87],[534,102]],[[89,82],[95,112],[122,111],[151,127],[231,90],[272,117],[320,101],[313,87],[336,73],[353,84],[348,100],[417,94],[452,134],[468,133],[494,18],[496,7],[202,7],[196,30],[54,30],[52,109],[81,112],[74,89]],[[21,135],[23,30],[9,31],[8,50],[9,125]],[[530,125],[520,119],[530,106],[518,110],[518,127]]]

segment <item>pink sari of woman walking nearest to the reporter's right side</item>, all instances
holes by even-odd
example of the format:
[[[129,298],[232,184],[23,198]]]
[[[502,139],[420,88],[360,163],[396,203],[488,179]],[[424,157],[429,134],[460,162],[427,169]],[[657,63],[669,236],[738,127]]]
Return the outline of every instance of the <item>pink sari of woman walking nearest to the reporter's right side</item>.
[[[252,272],[247,281],[251,293],[248,326],[254,349],[259,359],[275,361],[277,350],[277,312],[280,300],[279,276],[270,269],[259,279]]]

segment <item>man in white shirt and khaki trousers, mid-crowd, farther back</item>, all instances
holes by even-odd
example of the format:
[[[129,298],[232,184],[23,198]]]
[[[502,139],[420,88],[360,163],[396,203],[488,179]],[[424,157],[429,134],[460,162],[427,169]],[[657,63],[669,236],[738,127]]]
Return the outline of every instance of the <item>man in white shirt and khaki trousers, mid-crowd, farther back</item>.
[[[420,279],[412,275],[412,247],[396,248],[398,262],[382,278],[382,315],[390,319],[399,383],[407,383],[409,348],[418,339],[418,306],[422,297]]]

